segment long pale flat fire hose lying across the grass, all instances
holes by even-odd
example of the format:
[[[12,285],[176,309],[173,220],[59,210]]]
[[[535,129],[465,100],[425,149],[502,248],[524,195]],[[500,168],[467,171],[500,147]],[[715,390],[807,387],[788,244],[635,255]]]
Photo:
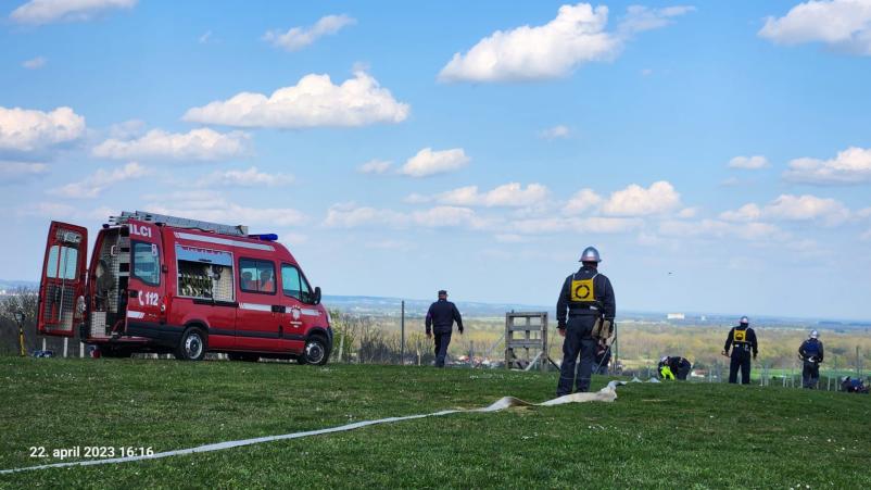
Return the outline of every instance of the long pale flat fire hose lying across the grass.
[[[641,382],[638,378],[633,379],[632,382]],[[649,382],[659,382],[656,379],[651,379]],[[343,426],[338,427],[330,427],[327,429],[318,429],[318,430],[306,430],[304,432],[293,432],[293,434],[282,434],[280,436],[264,436],[257,437],[253,439],[240,439],[237,441],[227,441],[227,442],[216,442],[214,444],[205,444],[205,445],[198,445],[195,448],[187,448],[187,449],[178,449],[175,451],[165,451],[162,453],[154,453],[150,455],[141,455],[141,456],[127,456],[127,457],[111,457],[105,460],[86,460],[86,461],[72,461],[66,463],[54,463],[54,464],[47,464],[47,465],[39,465],[39,466],[27,466],[23,468],[13,468],[13,469],[2,469],[0,470],[0,475],[4,475],[8,473],[16,473],[16,472],[27,472],[30,469],[45,469],[45,468],[64,468],[70,466],[91,466],[91,465],[103,465],[110,463],[128,463],[131,461],[144,461],[144,460],[157,460],[161,457],[169,457],[169,456],[180,456],[182,454],[193,454],[193,453],[206,453],[212,451],[220,451],[225,449],[231,448],[240,448],[242,445],[252,445],[252,444],[260,444],[262,442],[272,442],[272,441],[280,441],[285,439],[300,439],[304,437],[311,436],[320,436],[324,434],[332,434],[332,432],[343,432],[346,430],[354,430],[359,429],[363,427],[368,427],[373,425],[379,424],[390,424],[393,422],[402,422],[402,420],[413,420],[415,418],[426,418],[426,417],[440,417],[442,415],[450,415],[450,414],[457,414],[457,413],[492,413],[498,412],[501,410],[510,409],[513,406],[554,406],[554,405],[561,405],[565,403],[585,403],[585,402],[613,402],[617,400],[617,386],[626,385],[627,381],[610,381],[608,386],[605,388],[594,392],[594,393],[572,393],[566,394],[559,398],[555,398],[553,400],[547,400],[546,402],[542,403],[530,403],[514,397],[503,397],[495,401],[493,404],[489,406],[484,406],[481,409],[464,409],[464,410],[444,410],[441,412],[434,412],[431,414],[424,414],[424,415],[406,415],[403,417],[388,417],[388,418],[379,418],[377,420],[364,420],[364,422],[356,422],[353,424],[346,424]]]

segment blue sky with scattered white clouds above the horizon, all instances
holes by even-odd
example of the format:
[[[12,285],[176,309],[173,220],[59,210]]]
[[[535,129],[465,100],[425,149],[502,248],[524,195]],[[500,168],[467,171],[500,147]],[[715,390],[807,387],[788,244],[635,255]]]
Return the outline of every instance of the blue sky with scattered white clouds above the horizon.
[[[328,294],[871,318],[871,1],[0,1],[2,277],[51,219],[277,233]],[[275,92],[275,93],[274,93]]]

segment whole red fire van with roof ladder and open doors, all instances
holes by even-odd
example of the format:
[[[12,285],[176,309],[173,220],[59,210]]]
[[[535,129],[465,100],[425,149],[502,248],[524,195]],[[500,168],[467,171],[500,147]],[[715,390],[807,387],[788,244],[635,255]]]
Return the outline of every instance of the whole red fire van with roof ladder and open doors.
[[[141,211],[110,218],[87,263],[88,230],[52,222],[38,329],[101,355],[173,353],[202,360],[295,359],[326,364],[332,348],[320,288],[275,235]]]

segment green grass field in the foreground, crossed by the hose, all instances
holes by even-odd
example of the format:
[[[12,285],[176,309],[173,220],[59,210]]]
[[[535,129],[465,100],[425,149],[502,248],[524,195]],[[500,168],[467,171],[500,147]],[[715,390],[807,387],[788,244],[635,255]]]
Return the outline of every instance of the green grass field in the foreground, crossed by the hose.
[[[0,468],[31,447],[155,452],[553,398],[556,374],[0,357]],[[607,380],[597,378],[595,388]],[[0,476],[0,488],[869,488],[871,397],[629,385],[615,403],[510,409],[163,460]]]

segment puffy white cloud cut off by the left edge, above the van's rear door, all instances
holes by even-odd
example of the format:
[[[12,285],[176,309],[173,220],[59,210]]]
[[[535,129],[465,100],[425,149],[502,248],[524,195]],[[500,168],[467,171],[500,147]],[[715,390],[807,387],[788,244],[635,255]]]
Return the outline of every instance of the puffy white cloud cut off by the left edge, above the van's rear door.
[[[0,106],[0,150],[40,151],[85,134],[85,117],[70,108],[51,112]]]

